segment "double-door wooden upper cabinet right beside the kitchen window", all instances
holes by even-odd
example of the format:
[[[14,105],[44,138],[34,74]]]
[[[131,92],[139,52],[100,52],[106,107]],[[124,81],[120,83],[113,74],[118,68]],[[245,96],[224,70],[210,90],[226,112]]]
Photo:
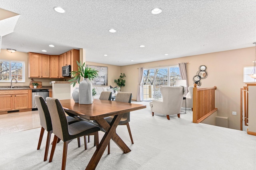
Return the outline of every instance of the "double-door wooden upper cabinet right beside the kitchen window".
[[[50,78],[50,55],[28,53],[28,77]]]

